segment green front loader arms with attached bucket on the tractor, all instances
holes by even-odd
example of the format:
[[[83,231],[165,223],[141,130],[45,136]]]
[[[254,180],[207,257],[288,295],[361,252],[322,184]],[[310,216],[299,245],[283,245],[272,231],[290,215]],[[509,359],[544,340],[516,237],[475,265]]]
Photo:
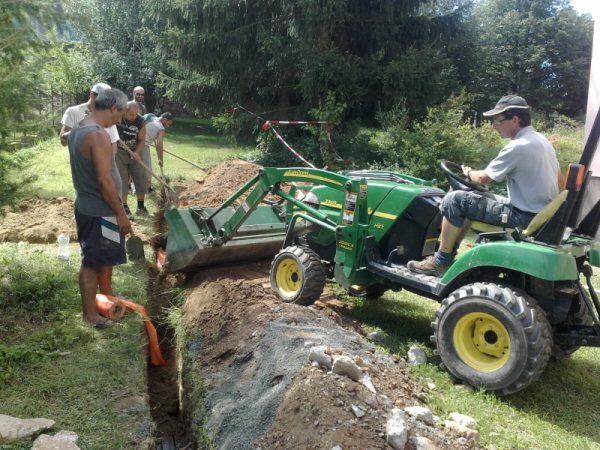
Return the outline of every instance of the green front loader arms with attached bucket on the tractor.
[[[308,182],[345,192],[344,213],[336,223],[280,188],[283,182]],[[307,186],[310,189],[310,186]],[[245,200],[240,200],[250,191]],[[340,277],[350,276],[362,257],[367,229],[366,182],[319,169],[264,168],[218,208],[173,209],[169,224],[167,266],[171,271],[268,258],[281,249],[289,230],[306,222],[335,232]],[[288,202],[287,212],[261,205],[268,194]],[[241,205],[232,207],[236,201]],[[303,225],[304,224],[304,225]]]

